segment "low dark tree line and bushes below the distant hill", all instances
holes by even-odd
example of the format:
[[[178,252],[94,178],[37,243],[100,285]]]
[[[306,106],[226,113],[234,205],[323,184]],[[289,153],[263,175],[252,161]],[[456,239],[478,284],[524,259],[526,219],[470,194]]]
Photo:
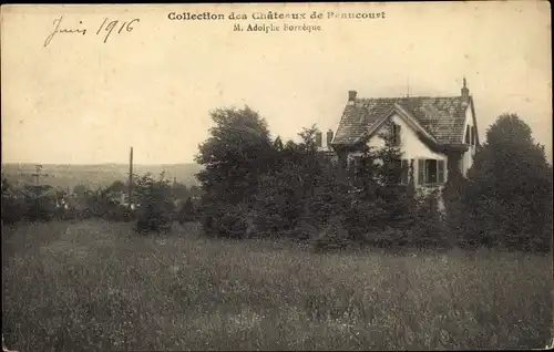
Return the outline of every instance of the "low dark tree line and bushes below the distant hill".
[[[115,180],[110,187],[90,190],[82,185],[72,195],[49,185],[25,185],[16,189],[2,175],[2,222],[80,220],[103,218],[111,221],[135,221],[136,229],[167,230],[173,220],[192,221],[197,217],[193,199],[202,194],[196,187],[165,180],[163,175],[134,177],[134,201],[125,200],[127,185]]]

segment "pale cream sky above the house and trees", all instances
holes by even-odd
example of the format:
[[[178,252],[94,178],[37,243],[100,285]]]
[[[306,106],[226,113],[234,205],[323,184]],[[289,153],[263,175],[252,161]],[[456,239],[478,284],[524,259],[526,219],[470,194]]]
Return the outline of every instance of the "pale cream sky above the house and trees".
[[[217,107],[249,105],[274,136],[289,139],[312,124],[336,130],[349,90],[454,96],[464,76],[481,138],[500,114],[516,113],[552,161],[546,1],[1,9],[2,163],[126,163],[131,146],[137,164],[189,163]],[[206,11],[249,18],[168,19]],[[325,18],[252,19],[267,11]],[[381,18],[328,19],[330,11]],[[60,15],[60,28],[88,32],[57,33],[44,46]],[[113,20],[120,27],[104,43]],[[280,31],[234,31],[234,23]],[[301,23],[321,30],[283,30]]]

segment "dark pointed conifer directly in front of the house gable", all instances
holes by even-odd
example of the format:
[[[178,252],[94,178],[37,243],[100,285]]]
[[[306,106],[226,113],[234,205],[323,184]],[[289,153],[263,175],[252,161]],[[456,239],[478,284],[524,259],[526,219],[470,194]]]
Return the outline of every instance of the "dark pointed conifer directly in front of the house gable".
[[[349,229],[352,241],[378,247],[411,245],[407,234],[417,207],[408,189],[410,186],[399,185],[402,153],[400,144],[393,143],[392,123],[384,124],[379,137],[382,147],[367,147],[349,166],[351,188],[340,193],[347,205],[342,209],[343,226]]]

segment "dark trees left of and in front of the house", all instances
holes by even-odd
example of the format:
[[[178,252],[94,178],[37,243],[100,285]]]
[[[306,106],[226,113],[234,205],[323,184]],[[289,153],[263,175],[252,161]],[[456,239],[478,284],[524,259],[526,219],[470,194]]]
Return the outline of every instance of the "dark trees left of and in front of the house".
[[[252,144],[242,143],[248,141],[247,137],[229,142],[229,136],[236,131],[232,127],[236,121],[246,118],[243,115],[257,122],[257,131],[264,132],[264,137],[256,139],[257,149]],[[316,125],[302,128],[298,134],[299,143],[288,141],[283,144],[280,137],[270,143],[265,122],[250,115],[248,110],[240,113],[217,111],[213,118],[218,125],[201,146],[198,156],[198,161],[207,166],[198,175],[206,193],[203,198],[206,234],[242,238],[254,232],[256,237],[307,239],[314,232],[340,232],[340,238],[350,241],[382,246],[399,244],[398,234],[411,219],[406,215],[413,201],[410,203],[406,195],[406,187],[398,186],[402,175],[398,163],[401,153],[400,146],[392,144],[390,132],[386,130],[381,135],[383,148],[367,149],[358,157],[350,169],[349,184],[343,184],[337,176],[338,165],[317,149]],[[386,125],[386,128],[391,126]],[[252,149],[256,149],[256,157],[247,161],[265,167],[245,169],[242,175],[232,173],[245,165],[244,155]],[[226,157],[218,161],[216,155]],[[237,196],[228,196],[230,191],[227,189]],[[304,230],[309,227],[315,230]],[[338,231],[338,228],[348,230]],[[382,234],[393,235],[383,238]],[[325,242],[325,238],[336,238],[334,236],[322,235],[320,242]]]

